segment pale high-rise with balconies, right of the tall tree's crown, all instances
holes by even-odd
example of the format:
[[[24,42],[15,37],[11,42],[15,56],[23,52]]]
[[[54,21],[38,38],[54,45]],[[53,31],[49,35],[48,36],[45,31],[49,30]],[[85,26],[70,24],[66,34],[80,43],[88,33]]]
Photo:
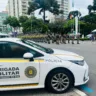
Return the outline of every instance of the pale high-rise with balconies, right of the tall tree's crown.
[[[60,5],[60,10],[63,10],[63,14],[56,15],[55,19],[64,19],[66,20],[69,14],[69,0],[57,0]]]

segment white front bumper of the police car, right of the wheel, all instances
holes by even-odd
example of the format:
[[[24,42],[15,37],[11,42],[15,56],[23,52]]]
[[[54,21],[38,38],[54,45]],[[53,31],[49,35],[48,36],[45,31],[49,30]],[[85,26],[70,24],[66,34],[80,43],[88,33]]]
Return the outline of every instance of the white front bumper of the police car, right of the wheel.
[[[88,71],[89,70],[88,69],[89,68],[88,68],[88,65],[86,64],[86,62],[84,64],[84,66],[78,66],[78,65],[73,64],[69,69],[74,74],[74,77],[75,77],[75,86],[83,85],[83,84],[85,84],[85,83],[88,82],[88,80],[89,80],[89,75],[88,75]],[[84,75],[85,75],[85,77],[87,79],[85,82],[83,81]]]

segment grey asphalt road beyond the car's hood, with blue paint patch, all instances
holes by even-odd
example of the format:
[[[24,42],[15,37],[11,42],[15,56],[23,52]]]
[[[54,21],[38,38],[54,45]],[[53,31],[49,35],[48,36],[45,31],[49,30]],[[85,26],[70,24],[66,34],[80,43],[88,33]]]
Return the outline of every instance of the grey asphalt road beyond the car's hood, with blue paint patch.
[[[89,65],[90,80],[86,85],[78,86],[77,88],[88,94],[88,96],[96,96],[96,42],[80,42],[80,44],[43,44],[50,48],[57,48],[67,51],[72,51],[85,57]]]

